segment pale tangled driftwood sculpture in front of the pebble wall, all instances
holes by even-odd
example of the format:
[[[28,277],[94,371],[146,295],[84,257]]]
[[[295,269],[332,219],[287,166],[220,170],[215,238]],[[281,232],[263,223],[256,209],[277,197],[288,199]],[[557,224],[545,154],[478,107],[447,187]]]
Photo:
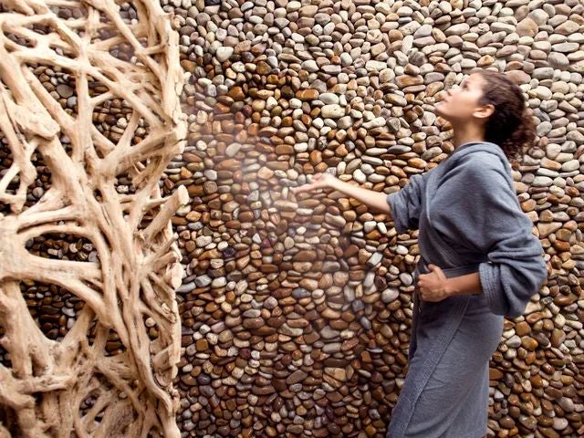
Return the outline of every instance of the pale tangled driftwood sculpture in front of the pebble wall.
[[[76,110],[36,78],[39,66],[68,72]],[[183,148],[182,83],[178,36],[154,0],[0,0],[1,147],[12,158],[0,172],[0,437],[180,436],[182,267],[170,219],[188,196],[181,187],[162,199],[159,183]],[[111,99],[131,108],[115,141],[92,121]],[[33,154],[51,184],[30,204]],[[26,250],[46,234],[89,240],[97,260]],[[60,341],[28,312],[26,280],[85,303]],[[107,354],[112,333],[122,347]]]

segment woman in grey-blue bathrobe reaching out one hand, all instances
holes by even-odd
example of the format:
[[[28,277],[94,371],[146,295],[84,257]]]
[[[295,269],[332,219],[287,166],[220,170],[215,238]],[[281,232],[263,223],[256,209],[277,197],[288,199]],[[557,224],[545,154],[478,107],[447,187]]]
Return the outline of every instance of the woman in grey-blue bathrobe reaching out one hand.
[[[504,317],[522,314],[547,276],[507,158],[534,138],[519,87],[479,70],[435,111],[454,127],[454,152],[387,196],[328,173],[293,193],[330,188],[420,229],[409,370],[389,438],[480,438],[487,431],[488,363]]]

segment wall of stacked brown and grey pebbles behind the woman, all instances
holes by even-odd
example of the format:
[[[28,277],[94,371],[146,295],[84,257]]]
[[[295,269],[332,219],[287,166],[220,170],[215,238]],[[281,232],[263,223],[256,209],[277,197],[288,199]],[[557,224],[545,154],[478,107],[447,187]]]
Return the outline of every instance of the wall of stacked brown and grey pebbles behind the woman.
[[[508,72],[537,119],[514,179],[550,269],[491,360],[489,434],[584,435],[582,2],[162,5],[181,35],[190,123],[162,179],[192,198],[173,218],[186,266],[183,436],[384,436],[407,371],[417,233],[397,235],[386,215],[340,193],[289,187],[327,171],[392,193],[432,169],[453,151],[433,103],[476,67]],[[37,74],[71,103],[68,78]],[[94,120],[115,137],[125,115],[112,102]],[[39,174],[37,196],[50,176]],[[91,258],[88,242],[31,245]],[[26,286],[58,339],[82,303]]]

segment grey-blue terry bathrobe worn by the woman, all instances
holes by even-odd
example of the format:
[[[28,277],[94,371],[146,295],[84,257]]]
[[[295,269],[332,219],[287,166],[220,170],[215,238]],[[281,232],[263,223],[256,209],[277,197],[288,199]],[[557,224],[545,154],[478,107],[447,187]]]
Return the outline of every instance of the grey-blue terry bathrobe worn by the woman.
[[[482,438],[488,364],[503,318],[521,315],[547,276],[539,240],[494,143],[468,142],[388,196],[399,233],[419,227],[421,260],[444,274],[479,272],[483,293],[433,303],[413,294],[409,370],[388,438]]]

